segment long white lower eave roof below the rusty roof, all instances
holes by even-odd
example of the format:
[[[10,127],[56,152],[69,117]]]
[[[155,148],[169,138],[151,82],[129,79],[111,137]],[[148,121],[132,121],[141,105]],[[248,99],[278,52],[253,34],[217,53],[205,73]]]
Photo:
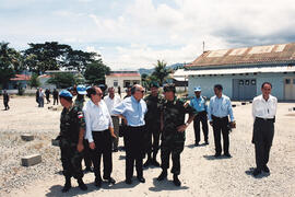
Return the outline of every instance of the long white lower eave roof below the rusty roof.
[[[239,74],[239,73],[266,73],[266,72],[295,72],[295,66],[284,67],[252,67],[232,69],[203,69],[203,70],[179,70],[174,77],[202,76],[202,74]]]

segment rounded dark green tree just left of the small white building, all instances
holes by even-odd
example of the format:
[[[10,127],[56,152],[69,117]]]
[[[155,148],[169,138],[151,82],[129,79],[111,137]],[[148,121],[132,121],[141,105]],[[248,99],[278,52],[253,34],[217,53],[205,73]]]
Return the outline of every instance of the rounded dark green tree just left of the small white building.
[[[104,84],[105,76],[109,72],[110,68],[104,65],[102,59],[99,59],[86,66],[84,77],[90,84]]]

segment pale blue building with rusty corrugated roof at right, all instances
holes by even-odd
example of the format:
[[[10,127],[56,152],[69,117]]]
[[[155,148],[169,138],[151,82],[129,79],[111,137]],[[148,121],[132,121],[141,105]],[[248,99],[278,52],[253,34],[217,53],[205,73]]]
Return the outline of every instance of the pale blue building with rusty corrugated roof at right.
[[[219,83],[232,100],[251,100],[268,81],[279,100],[295,100],[295,43],[209,50],[185,68],[175,76],[188,78],[190,96],[200,85],[210,97]]]

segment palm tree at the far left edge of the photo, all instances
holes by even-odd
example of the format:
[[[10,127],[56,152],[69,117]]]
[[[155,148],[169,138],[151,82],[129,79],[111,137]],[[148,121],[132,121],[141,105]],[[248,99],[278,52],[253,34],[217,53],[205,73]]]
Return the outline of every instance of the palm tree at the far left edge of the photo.
[[[9,43],[0,43],[0,83],[2,88],[7,88],[9,80],[23,70],[22,55],[8,45]]]

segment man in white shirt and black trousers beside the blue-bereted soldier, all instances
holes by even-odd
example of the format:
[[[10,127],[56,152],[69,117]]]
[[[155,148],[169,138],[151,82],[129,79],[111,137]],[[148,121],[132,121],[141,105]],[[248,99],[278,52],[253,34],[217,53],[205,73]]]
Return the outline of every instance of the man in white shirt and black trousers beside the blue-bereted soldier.
[[[111,161],[111,137],[114,126],[105,102],[102,100],[103,91],[97,86],[87,89],[87,96],[91,99],[83,107],[86,123],[86,136],[88,140],[91,157],[94,165],[95,185],[102,186],[101,158],[104,160],[104,179],[115,184],[110,176],[113,171]]]

